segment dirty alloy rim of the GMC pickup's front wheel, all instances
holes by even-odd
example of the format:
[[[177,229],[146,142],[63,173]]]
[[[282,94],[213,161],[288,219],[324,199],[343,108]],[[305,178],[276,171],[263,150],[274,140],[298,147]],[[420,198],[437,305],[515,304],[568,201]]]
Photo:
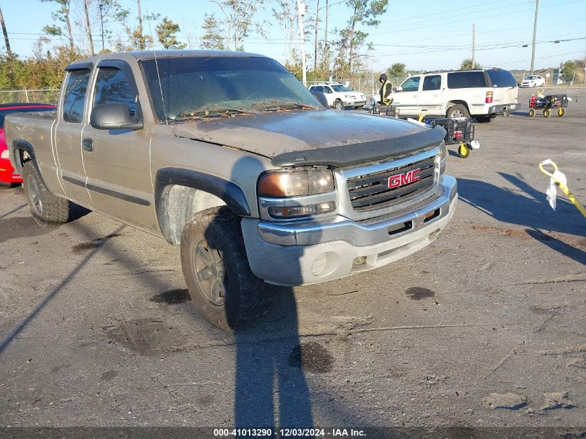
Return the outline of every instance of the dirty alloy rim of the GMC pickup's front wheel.
[[[193,271],[203,298],[216,307],[225,303],[225,272],[223,259],[217,249],[209,248],[202,239],[193,250]]]

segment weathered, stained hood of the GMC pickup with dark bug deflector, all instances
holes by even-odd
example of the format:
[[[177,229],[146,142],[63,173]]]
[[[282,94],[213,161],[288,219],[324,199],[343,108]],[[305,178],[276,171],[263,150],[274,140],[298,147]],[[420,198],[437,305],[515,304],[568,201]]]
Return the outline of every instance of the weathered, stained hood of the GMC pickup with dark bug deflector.
[[[299,110],[178,123],[175,135],[250,151],[275,166],[347,166],[437,146],[443,128],[338,110]]]

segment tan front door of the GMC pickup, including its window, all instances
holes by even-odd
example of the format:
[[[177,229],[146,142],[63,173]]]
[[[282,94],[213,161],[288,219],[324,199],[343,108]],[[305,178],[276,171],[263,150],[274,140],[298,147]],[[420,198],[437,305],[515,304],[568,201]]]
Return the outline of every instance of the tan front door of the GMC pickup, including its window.
[[[141,118],[135,76],[121,60],[98,63],[91,108],[105,103],[124,103],[130,114]],[[148,105],[148,101],[144,101]],[[89,122],[89,117],[88,117]],[[87,189],[94,208],[145,230],[158,230],[150,181],[150,137],[140,130],[96,130],[83,132],[83,164]]]

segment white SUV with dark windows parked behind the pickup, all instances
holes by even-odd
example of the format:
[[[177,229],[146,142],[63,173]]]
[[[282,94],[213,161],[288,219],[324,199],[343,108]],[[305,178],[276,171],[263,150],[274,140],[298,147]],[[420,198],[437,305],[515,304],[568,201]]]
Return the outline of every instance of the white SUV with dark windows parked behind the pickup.
[[[407,78],[389,95],[399,117],[475,117],[491,121],[517,110],[519,87],[503,69],[426,72]],[[380,97],[372,96],[371,105]]]

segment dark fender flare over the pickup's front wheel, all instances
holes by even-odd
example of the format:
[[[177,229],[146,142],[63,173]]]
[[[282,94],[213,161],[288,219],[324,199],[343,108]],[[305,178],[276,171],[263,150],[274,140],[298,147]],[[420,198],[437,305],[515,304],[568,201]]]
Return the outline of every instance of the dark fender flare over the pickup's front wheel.
[[[155,213],[157,222],[164,238],[171,239],[171,227],[166,212],[166,196],[169,195],[169,189],[174,184],[191,187],[220,198],[227,207],[238,216],[250,216],[250,207],[244,196],[242,189],[223,178],[209,175],[206,173],[191,171],[181,168],[162,168],[157,171],[155,178]]]

